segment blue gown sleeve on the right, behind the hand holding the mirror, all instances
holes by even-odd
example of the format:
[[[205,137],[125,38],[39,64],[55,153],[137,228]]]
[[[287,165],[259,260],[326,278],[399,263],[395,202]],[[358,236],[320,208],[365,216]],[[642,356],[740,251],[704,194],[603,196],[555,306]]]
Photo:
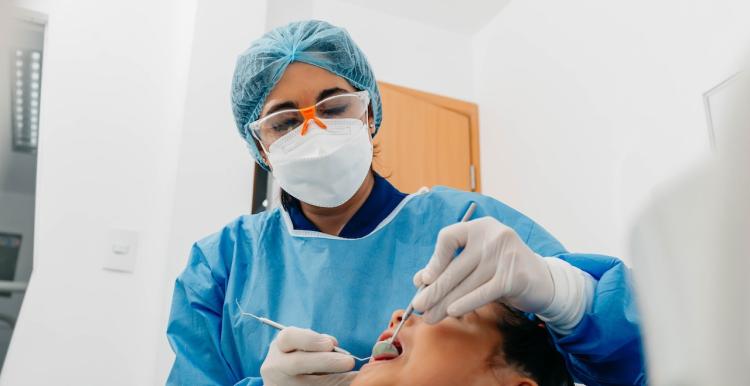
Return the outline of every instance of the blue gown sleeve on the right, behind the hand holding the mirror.
[[[530,233],[530,245],[557,244],[538,225]],[[573,377],[587,386],[646,385],[640,317],[628,267],[615,257],[569,253],[561,247],[553,255],[596,280],[593,303],[581,322],[567,335],[550,330]]]

